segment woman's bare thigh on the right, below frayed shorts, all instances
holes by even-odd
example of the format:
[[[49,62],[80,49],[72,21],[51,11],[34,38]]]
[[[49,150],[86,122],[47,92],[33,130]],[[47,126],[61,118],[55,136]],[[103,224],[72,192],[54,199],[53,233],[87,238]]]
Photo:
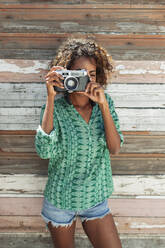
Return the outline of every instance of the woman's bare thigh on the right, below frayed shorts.
[[[82,222],[94,248],[122,248],[112,214]]]

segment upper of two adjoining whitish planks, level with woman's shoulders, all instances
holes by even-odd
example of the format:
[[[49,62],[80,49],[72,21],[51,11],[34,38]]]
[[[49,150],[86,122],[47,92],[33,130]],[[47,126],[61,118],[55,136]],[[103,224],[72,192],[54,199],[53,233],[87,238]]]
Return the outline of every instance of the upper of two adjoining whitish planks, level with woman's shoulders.
[[[0,83],[1,107],[41,107],[45,83]],[[165,84],[109,84],[106,91],[119,108],[164,108]],[[8,95],[8,98],[6,98]]]

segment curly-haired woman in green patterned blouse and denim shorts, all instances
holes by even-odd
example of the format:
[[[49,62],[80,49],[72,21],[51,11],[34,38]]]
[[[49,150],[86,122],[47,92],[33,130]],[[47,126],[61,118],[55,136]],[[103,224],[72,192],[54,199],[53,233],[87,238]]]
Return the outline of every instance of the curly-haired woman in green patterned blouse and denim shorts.
[[[58,70],[85,69],[84,92],[66,92],[55,100],[54,86],[64,88]],[[95,248],[121,248],[107,199],[113,192],[110,153],[123,143],[111,97],[104,93],[112,73],[105,49],[87,39],[69,39],[46,75],[47,101],[41,110],[35,144],[49,159],[42,217],[54,247],[73,248],[76,217]]]

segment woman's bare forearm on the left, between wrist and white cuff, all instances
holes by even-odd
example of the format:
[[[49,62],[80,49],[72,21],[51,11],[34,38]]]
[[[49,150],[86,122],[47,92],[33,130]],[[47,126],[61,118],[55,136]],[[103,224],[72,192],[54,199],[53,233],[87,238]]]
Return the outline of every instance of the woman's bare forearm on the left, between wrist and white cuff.
[[[44,111],[41,127],[49,134],[53,130],[54,96],[47,96],[46,108]]]

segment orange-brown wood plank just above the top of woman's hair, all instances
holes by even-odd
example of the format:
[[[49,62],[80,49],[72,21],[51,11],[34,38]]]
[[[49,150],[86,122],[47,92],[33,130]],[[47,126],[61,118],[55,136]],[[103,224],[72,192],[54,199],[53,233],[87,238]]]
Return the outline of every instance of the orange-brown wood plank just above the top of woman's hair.
[[[68,33],[41,34],[41,33],[0,33],[0,49],[56,49],[63,40],[70,35]],[[79,37],[85,37],[79,34]],[[109,49],[164,49],[165,35],[108,35],[94,34],[93,37],[98,43]]]

